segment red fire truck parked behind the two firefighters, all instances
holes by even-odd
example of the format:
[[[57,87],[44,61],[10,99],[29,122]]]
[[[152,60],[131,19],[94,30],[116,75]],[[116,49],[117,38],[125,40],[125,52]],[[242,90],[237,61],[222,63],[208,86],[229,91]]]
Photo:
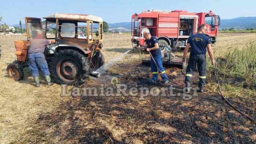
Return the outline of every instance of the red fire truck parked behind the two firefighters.
[[[148,10],[132,14],[132,42],[144,45],[143,32],[148,30],[158,38],[161,51],[164,46],[185,48],[188,37],[197,33],[198,26],[205,24],[214,44],[220,25],[220,16],[211,10],[208,13],[187,12],[185,10]]]

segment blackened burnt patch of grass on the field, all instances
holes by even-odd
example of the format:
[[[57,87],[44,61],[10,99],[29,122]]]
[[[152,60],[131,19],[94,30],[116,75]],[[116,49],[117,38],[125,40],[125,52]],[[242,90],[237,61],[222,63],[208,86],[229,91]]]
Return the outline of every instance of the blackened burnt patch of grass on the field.
[[[118,64],[118,78],[129,87],[144,82],[150,68],[142,64]],[[181,69],[166,68],[175,82],[183,82]],[[143,73],[145,72],[145,73]],[[114,75],[109,70],[105,76]],[[196,73],[195,73],[196,75]],[[193,77],[196,86],[198,76]],[[98,86],[103,79],[86,82]],[[106,81],[105,84],[111,85]],[[182,88],[182,86],[176,86]],[[162,85],[158,86],[159,88]],[[179,92],[176,91],[176,92]],[[256,98],[228,98],[256,119]],[[40,128],[21,142],[58,143],[255,143],[256,126],[226,104],[217,93],[204,92],[183,100],[181,96],[74,97],[51,113],[40,114]],[[36,140],[35,140],[36,139]]]

